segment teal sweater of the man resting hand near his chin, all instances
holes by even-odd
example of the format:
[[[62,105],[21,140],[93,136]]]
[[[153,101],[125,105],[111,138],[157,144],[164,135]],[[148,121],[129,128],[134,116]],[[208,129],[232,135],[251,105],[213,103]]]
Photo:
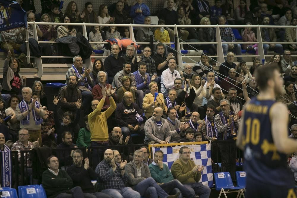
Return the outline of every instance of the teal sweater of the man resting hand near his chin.
[[[163,170],[160,170],[159,166],[153,161],[149,165],[149,170],[151,177],[158,183],[167,183],[173,180],[173,175],[166,164],[163,164]]]

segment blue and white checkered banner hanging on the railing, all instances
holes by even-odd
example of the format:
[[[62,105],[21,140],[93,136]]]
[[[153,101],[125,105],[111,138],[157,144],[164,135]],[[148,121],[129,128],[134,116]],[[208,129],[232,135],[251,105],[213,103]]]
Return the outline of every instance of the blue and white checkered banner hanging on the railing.
[[[203,185],[212,188],[214,186],[214,180],[212,176],[212,167],[211,167],[211,151],[210,143],[208,144],[198,144],[198,145],[184,145],[187,146],[191,151],[190,160],[194,161],[196,165],[203,165],[204,170],[202,171],[201,178],[199,182],[202,182]],[[173,146],[166,148],[153,147],[152,154],[154,156],[155,151],[161,150],[164,152],[163,163],[168,165],[169,170],[174,161],[179,159],[179,149],[183,147]]]

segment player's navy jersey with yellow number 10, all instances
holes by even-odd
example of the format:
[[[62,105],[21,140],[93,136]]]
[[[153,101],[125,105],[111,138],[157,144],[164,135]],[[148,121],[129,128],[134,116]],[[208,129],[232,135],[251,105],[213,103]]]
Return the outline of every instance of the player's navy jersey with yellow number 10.
[[[271,134],[270,110],[273,100],[252,98],[244,111],[242,142],[247,177],[276,186],[290,186],[287,155],[279,153]]]

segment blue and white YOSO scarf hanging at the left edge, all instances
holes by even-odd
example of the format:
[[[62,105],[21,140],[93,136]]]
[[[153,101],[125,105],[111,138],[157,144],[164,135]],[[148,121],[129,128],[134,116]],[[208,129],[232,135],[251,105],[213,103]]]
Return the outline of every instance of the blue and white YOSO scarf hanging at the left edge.
[[[11,153],[7,145],[4,145],[2,154],[2,163],[1,163],[1,183],[2,187],[10,187],[12,183],[12,163],[11,163]]]

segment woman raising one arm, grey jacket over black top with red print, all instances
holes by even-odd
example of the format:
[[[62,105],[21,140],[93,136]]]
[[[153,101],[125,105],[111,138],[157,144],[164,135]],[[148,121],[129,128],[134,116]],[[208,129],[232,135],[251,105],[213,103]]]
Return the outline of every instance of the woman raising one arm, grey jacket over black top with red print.
[[[17,58],[11,58],[11,52],[7,52],[7,58],[3,66],[3,81],[1,96],[4,101],[10,99],[10,95],[20,95],[22,97],[22,88],[26,86],[26,76],[20,75],[20,61]]]

